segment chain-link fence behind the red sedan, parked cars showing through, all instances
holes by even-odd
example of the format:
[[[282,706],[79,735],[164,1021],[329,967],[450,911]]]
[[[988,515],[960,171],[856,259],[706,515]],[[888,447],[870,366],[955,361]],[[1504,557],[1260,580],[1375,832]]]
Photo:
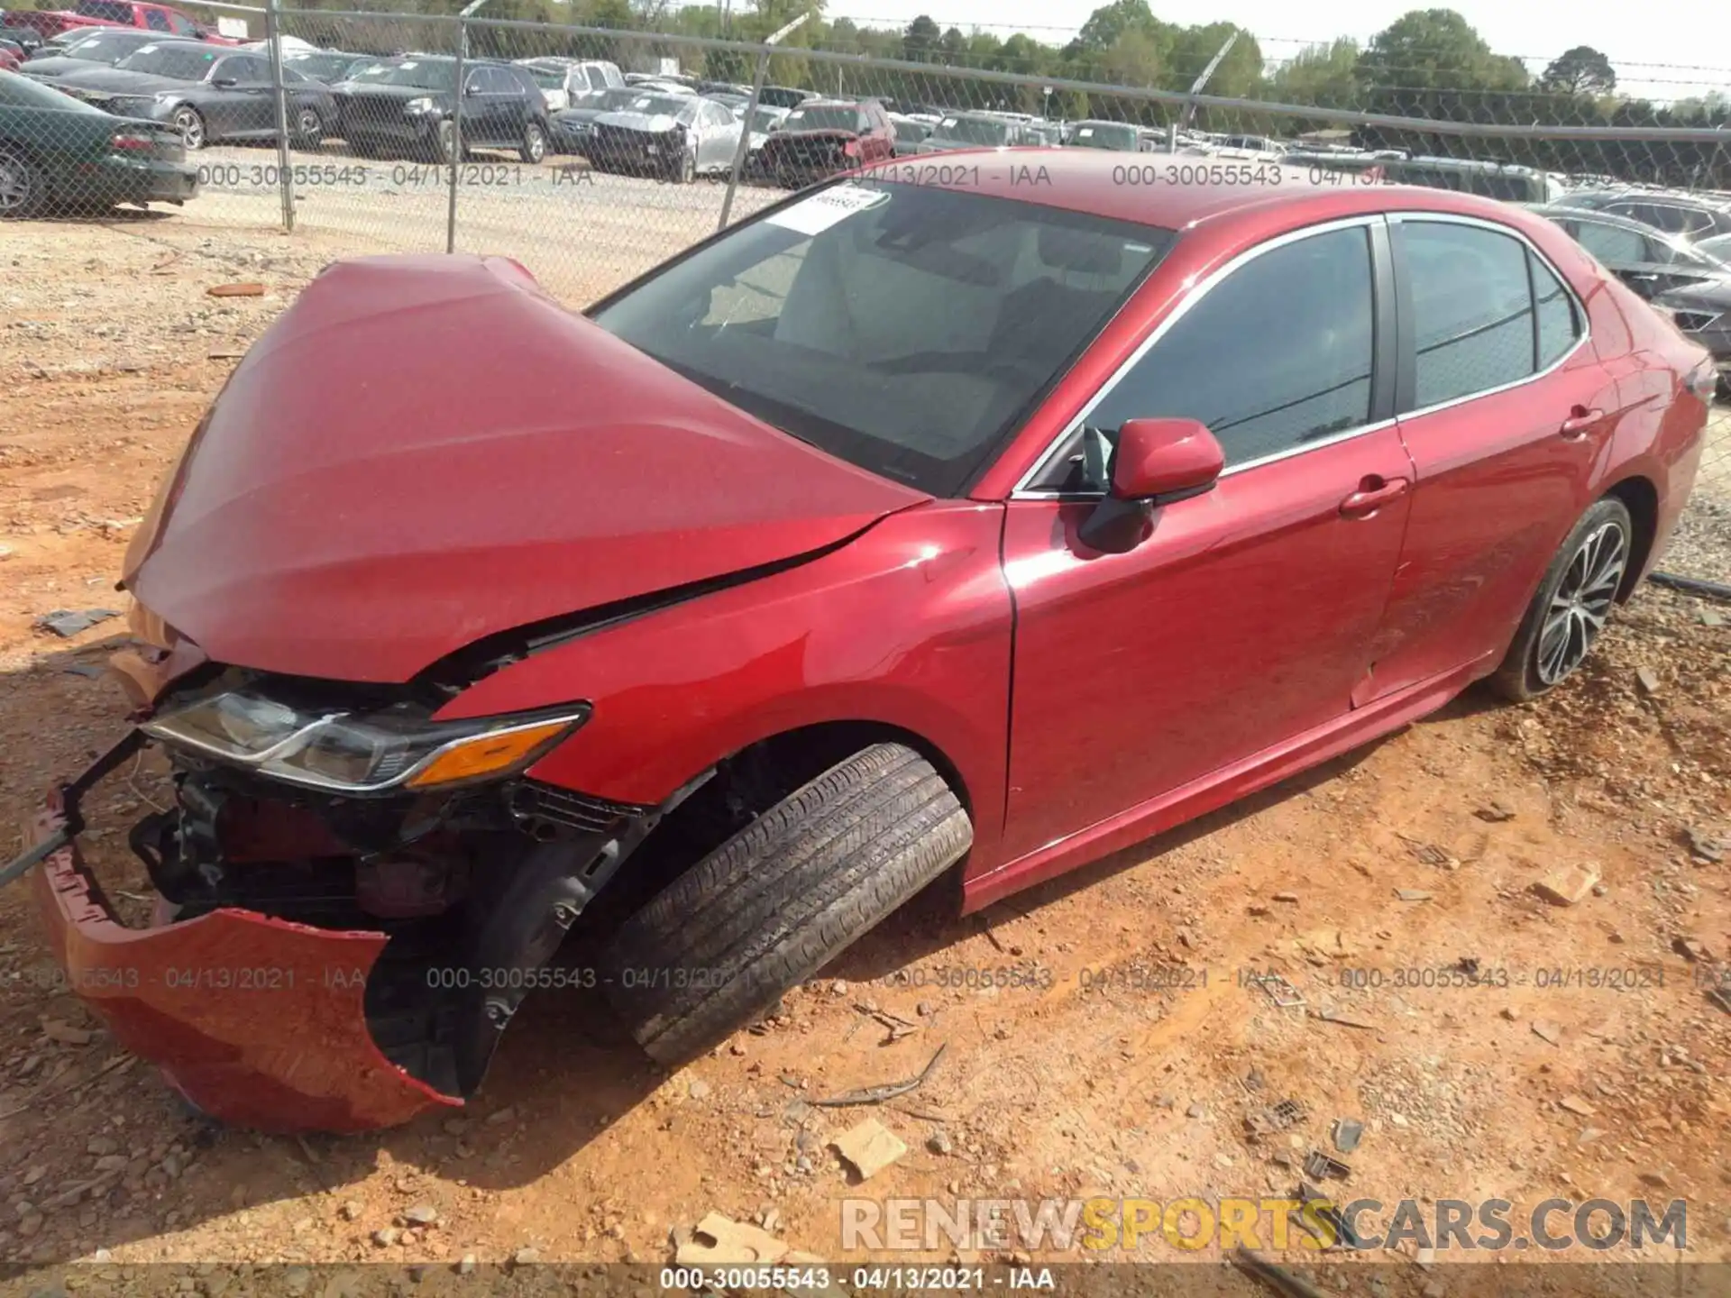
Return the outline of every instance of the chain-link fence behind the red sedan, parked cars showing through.
[[[1279,156],[1317,185],[1400,180],[1580,204],[1608,216],[1587,232],[1601,260],[1620,256],[1632,277],[1672,289],[1708,279],[1696,260],[1714,244],[1703,241],[1731,234],[1722,112],[1715,121],[1705,107],[1653,109],[1554,85],[1461,90],[1433,67],[1359,85],[1326,76],[1326,50],[1314,66],[1258,73],[1253,93],[1213,95],[1207,83],[1222,61],[1231,69],[1231,42],[1201,76],[1184,69],[1130,87],[1111,78],[1134,69],[1111,59],[1071,64],[1099,78],[1075,80],[1016,71],[1013,59],[879,57],[834,31],[815,48],[781,43],[798,22],[743,42],[473,12],[206,10],[239,19],[258,43],[121,33],[107,38],[113,48],[87,50],[87,66],[31,59],[24,83],[9,80],[10,99],[54,87],[90,111],[29,128],[74,154],[52,173],[40,151],[0,135],[0,211],[185,199],[201,222],[319,230],[353,253],[507,254],[573,306],[789,189],[860,163],[930,163],[978,145],[1110,149],[1127,177],[1156,183],[1149,168],[1200,163],[1193,173],[1205,177],[1213,163]],[[196,83],[145,88],[125,74],[138,64]],[[0,100],[0,119],[29,111]],[[1731,357],[1731,313],[1674,315]],[[1731,583],[1724,402],[1667,569]]]

